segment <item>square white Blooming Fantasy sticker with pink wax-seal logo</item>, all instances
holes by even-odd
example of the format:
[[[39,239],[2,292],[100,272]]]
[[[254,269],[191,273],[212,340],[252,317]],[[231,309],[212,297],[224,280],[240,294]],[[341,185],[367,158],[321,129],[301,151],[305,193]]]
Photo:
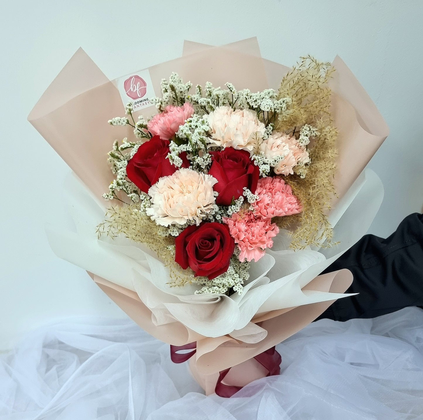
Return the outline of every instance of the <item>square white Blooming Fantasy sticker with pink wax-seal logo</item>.
[[[152,106],[150,99],[156,96],[148,70],[121,77],[118,79],[118,89],[124,105],[128,102],[134,104],[134,112]]]

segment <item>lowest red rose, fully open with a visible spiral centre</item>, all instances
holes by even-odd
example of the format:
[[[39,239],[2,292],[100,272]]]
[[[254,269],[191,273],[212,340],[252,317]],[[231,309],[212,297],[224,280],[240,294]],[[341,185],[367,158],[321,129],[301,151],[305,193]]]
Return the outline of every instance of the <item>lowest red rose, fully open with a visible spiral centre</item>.
[[[234,250],[228,226],[217,222],[188,226],[175,239],[175,261],[209,280],[228,270]]]

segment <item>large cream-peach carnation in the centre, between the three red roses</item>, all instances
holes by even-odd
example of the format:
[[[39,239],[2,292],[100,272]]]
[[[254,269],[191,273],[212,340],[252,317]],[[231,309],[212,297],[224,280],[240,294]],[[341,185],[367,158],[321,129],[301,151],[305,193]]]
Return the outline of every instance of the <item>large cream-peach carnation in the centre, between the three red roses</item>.
[[[146,213],[162,226],[195,221],[197,226],[214,208],[211,175],[181,168],[173,175],[160,178],[149,190],[152,206]]]

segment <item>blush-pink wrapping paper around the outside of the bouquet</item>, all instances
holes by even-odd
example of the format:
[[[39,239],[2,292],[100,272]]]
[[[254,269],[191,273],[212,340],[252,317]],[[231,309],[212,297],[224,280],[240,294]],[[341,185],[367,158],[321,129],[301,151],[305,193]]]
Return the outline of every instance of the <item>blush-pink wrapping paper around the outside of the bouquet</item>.
[[[225,63],[225,65],[221,65]],[[246,65],[247,63],[247,65]],[[339,57],[332,82],[335,125],[341,133],[338,141],[339,159],[336,187],[340,199],[357,179],[388,134],[388,128],[371,99]],[[255,38],[222,47],[185,42],[184,56],[149,68],[156,94],[160,80],[172,71],[194,85],[206,81],[223,86],[231,81],[238,89],[252,91],[277,88],[288,68],[264,60]],[[114,139],[130,136],[126,127],[111,127],[107,120],[123,115],[121,96],[93,61],[79,49],[60,74],[47,88],[28,120],[50,143],[85,185],[101,199],[111,180],[107,152]],[[142,110],[146,117],[155,113],[154,106]],[[77,124],[75,122],[78,122]],[[360,150],[360,153],[357,151]],[[104,205],[106,207],[106,205]],[[213,392],[216,375],[231,366],[225,381],[240,381],[245,385],[264,376],[260,366],[249,360],[278,344],[308,325],[330,302],[314,303],[297,308],[282,309],[255,316],[253,322],[267,330],[264,340],[249,344],[229,336],[204,337],[180,322],[154,325],[151,311],[136,292],[90,274],[101,289],[134,321],[151,335],[166,343],[183,345],[197,341],[197,352],[190,360],[193,375],[205,388]],[[352,282],[348,270],[317,276],[307,287],[313,290],[345,292]],[[240,372],[248,372],[247,377]],[[238,372],[238,373],[236,373]],[[260,376],[261,375],[261,376]]]

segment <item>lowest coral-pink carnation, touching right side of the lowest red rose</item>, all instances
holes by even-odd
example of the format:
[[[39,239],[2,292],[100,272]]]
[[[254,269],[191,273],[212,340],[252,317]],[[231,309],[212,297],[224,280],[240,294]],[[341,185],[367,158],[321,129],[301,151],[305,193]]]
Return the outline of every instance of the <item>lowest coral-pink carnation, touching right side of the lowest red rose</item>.
[[[252,259],[257,262],[266,248],[272,248],[272,237],[279,233],[279,228],[270,219],[258,218],[251,211],[233,213],[232,217],[225,217],[223,221],[241,251],[241,262]]]

